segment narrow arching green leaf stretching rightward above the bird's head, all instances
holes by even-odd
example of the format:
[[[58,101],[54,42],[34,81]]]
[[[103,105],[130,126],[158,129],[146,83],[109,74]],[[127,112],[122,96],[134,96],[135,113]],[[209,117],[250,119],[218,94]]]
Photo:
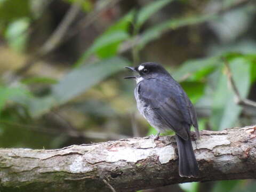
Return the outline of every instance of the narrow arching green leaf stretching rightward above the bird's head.
[[[202,23],[205,21],[209,21],[217,18],[215,15],[196,15],[194,17],[187,17],[182,19],[171,19],[160,23],[159,25],[155,25],[154,27],[146,30],[143,34],[141,34],[138,43],[138,49],[141,50],[145,45],[149,42],[154,41],[155,39],[161,37],[163,33],[168,30],[174,30],[179,27],[195,25],[198,23]]]

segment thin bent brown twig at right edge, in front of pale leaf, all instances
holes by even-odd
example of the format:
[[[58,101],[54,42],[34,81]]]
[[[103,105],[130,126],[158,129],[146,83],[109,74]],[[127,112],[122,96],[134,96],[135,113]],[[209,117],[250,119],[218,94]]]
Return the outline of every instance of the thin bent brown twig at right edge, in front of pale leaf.
[[[235,81],[233,79],[231,69],[229,67],[229,63],[228,63],[227,59],[222,57],[222,60],[224,61],[225,65],[227,67],[228,81],[229,81],[229,84],[231,85],[231,88],[233,89],[233,91],[235,93],[236,103],[241,106],[256,107],[256,102],[251,101],[249,99],[242,99],[241,94],[239,93],[237,86],[235,84]]]

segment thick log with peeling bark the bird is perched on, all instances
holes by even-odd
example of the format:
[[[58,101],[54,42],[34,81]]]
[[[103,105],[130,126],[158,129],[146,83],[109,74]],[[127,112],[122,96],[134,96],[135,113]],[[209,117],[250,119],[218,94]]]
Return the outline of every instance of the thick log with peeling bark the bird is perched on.
[[[256,126],[201,131],[199,178],[181,178],[174,137],[55,150],[0,149],[0,191],[134,191],[191,181],[256,179]]]

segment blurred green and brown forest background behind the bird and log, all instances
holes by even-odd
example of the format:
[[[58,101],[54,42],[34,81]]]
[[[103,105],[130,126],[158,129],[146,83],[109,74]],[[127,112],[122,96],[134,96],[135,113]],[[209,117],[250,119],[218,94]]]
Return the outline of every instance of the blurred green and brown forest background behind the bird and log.
[[[53,149],[143,137],[124,66],[161,63],[201,130],[256,124],[256,2],[0,0],[0,147]],[[230,70],[227,68],[230,67]],[[170,134],[170,133],[168,133]],[[255,191],[253,180],[143,191]]]

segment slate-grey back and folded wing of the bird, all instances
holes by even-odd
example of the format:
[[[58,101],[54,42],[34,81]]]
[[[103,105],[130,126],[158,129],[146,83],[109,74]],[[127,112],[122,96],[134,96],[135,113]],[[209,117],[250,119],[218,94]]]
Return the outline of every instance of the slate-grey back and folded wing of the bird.
[[[140,98],[153,108],[165,127],[187,140],[190,125],[197,124],[195,112],[191,110],[194,108],[188,106],[189,99],[181,86],[173,79],[170,81],[154,78],[141,81],[138,87]],[[195,118],[194,123],[191,117]]]

